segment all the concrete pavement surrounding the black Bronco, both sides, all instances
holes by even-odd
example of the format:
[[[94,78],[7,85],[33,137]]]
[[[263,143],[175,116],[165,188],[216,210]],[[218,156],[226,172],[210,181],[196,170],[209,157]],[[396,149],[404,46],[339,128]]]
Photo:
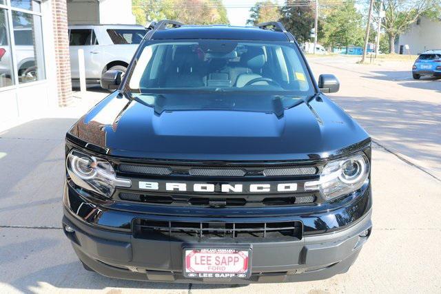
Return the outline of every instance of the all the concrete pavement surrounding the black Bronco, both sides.
[[[441,80],[412,61],[310,58],[373,138],[373,233],[348,273],[296,284],[161,284],[83,270],[61,230],[65,131],[105,92],[0,130],[0,293],[441,293]],[[76,94],[81,97],[81,94]]]

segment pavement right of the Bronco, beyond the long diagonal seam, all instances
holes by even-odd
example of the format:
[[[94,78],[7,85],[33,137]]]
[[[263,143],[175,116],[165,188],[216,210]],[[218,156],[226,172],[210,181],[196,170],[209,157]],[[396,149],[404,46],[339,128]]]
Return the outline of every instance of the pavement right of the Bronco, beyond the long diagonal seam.
[[[309,58],[316,78],[335,74],[330,94],[378,144],[441,179],[441,79],[413,80],[413,60],[356,62],[359,57]]]

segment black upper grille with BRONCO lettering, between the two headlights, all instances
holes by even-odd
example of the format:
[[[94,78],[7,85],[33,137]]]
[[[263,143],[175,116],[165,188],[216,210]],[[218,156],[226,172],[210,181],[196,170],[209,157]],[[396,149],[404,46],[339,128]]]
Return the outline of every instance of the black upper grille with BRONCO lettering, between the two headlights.
[[[300,162],[119,162],[117,176],[132,180],[129,189],[118,189],[115,198],[145,204],[176,207],[265,207],[314,204],[318,191],[306,191],[304,183],[318,180],[321,164]],[[278,184],[295,183],[292,191]],[[167,185],[173,184],[170,189]],[[207,187],[206,185],[210,185]],[[183,185],[176,187],[176,185]],[[267,185],[257,191],[252,185]],[[197,189],[196,189],[197,187]],[[214,187],[214,188],[212,188]],[[226,191],[223,191],[225,187]],[[265,187],[265,189],[267,189]],[[205,189],[205,190],[204,190]],[[260,187],[260,189],[263,189]]]

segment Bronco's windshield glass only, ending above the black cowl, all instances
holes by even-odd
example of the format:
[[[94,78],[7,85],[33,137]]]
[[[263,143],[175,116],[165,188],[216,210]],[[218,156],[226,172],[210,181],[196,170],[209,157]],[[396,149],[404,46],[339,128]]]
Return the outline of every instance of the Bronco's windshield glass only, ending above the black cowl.
[[[152,90],[271,91],[314,94],[299,52],[289,43],[225,40],[150,43],[128,81]]]

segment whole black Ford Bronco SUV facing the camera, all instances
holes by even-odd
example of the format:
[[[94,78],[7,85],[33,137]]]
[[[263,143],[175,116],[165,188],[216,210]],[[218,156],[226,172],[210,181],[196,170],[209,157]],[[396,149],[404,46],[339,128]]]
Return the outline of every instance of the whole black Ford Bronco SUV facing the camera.
[[[319,280],[371,233],[371,139],[276,22],[160,21],[66,135],[85,269],[162,282]]]

